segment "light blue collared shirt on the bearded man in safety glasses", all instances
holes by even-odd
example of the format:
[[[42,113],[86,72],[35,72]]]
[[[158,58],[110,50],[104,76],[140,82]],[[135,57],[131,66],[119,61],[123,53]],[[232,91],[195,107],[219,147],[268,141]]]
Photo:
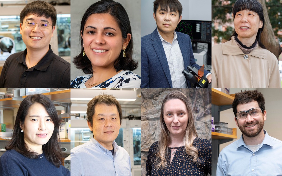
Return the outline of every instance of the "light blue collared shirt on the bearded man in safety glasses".
[[[282,141],[265,138],[255,152],[241,138],[219,154],[216,176],[282,176]]]

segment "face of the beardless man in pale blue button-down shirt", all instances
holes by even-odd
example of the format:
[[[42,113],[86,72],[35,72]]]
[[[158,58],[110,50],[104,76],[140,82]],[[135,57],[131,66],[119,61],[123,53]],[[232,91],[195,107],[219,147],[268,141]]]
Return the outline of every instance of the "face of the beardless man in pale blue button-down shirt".
[[[120,130],[118,108],[115,105],[97,104],[92,122],[88,122],[88,126],[96,141],[105,148],[112,146]]]

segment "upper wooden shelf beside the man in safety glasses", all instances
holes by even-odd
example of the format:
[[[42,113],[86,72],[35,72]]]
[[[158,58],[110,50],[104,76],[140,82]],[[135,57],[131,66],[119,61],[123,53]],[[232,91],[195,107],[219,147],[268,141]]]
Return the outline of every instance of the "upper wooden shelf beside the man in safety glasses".
[[[211,88],[211,104],[215,104],[217,106],[230,105],[233,103],[233,100],[234,97]]]

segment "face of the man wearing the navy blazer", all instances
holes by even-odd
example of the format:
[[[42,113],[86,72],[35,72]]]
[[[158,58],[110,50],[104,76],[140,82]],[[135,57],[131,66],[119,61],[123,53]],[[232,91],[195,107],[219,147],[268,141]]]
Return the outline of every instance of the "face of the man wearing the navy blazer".
[[[164,9],[160,9],[160,6],[158,7],[156,14],[153,13],[153,16],[160,34],[172,34],[181,20],[178,11],[170,11],[168,8],[168,12],[166,12]]]

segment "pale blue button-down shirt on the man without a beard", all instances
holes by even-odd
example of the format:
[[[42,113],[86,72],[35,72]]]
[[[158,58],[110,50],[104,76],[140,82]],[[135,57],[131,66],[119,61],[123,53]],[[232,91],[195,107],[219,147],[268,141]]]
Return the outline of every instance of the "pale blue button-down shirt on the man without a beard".
[[[93,137],[70,150],[71,176],[132,176],[127,151],[113,142],[114,156]]]

